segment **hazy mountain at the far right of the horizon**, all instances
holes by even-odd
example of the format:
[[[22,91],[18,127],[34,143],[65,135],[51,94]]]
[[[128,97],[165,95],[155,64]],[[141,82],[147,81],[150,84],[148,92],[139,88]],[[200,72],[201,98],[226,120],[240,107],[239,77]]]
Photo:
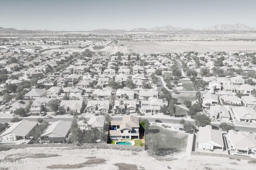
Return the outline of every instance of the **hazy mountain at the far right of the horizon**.
[[[217,24],[209,28],[204,28],[203,30],[209,31],[256,31],[256,28],[248,27],[242,23],[236,24]]]

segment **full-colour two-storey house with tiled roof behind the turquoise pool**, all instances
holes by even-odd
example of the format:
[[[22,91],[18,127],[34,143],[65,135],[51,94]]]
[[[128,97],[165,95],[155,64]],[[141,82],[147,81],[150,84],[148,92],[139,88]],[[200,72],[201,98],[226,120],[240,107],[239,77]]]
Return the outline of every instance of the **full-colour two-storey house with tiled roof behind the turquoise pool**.
[[[138,117],[128,115],[122,121],[111,121],[109,137],[111,140],[139,139],[139,127]]]

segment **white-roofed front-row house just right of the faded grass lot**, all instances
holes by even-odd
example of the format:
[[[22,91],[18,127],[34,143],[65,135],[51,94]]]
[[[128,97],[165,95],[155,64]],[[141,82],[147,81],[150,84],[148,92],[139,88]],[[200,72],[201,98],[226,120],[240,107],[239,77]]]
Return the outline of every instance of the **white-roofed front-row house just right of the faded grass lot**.
[[[224,148],[222,131],[212,129],[211,125],[199,127],[198,148],[214,150]]]

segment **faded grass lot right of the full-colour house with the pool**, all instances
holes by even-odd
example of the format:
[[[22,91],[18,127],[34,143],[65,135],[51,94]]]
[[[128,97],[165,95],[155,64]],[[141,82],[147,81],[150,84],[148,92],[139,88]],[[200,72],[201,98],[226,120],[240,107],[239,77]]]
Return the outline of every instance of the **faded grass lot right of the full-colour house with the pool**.
[[[177,131],[170,131],[154,125],[150,126],[149,129],[149,132],[154,131],[154,133],[158,133],[161,136],[162,141],[160,142],[160,148],[171,148],[176,150],[176,152],[186,150],[188,138],[187,134]]]

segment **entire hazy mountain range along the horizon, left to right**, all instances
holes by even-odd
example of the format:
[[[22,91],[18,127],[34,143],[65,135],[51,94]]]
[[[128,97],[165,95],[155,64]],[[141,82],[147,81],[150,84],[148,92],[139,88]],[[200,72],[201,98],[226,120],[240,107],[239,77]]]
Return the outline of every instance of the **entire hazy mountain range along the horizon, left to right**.
[[[181,27],[173,27],[171,25],[166,25],[163,27],[153,27],[153,28],[135,28],[130,31],[127,31],[125,29],[95,29],[92,30],[92,32],[113,32],[113,33],[121,33],[121,32],[154,32],[154,31],[193,31],[196,29],[192,28],[181,28]],[[242,23],[235,23],[235,24],[217,24],[213,25],[212,27],[204,28],[203,31],[256,31],[256,28],[248,27],[247,25],[244,25]],[[32,31],[32,30],[17,30],[14,28],[3,28],[0,27],[0,31]],[[35,31],[41,31],[41,30],[35,30]],[[48,31],[48,30],[42,30],[42,31]]]

